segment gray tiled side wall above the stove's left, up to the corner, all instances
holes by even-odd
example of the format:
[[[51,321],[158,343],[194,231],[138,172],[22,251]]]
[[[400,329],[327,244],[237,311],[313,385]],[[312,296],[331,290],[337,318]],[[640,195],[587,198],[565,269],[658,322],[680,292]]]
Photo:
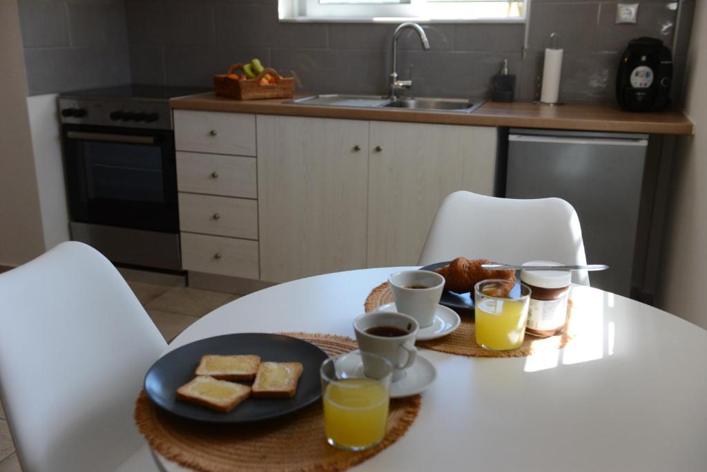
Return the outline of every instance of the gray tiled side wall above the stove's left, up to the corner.
[[[130,81],[124,0],[18,0],[31,95]]]

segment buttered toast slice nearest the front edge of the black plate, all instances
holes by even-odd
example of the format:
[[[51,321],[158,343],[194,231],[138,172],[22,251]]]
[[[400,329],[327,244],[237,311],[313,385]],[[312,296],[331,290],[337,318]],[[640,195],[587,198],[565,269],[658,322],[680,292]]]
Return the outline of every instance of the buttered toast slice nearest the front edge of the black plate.
[[[250,396],[250,387],[235,382],[198,376],[177,388],[177,400],[196,403],[211,410],[228,413]]]

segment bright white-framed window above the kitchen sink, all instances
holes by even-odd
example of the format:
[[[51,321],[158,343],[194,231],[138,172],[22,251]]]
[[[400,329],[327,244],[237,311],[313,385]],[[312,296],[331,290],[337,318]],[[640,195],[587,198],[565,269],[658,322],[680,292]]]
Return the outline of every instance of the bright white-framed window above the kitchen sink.
[[[281,21],[525,21],[527,0],[279,0]]]

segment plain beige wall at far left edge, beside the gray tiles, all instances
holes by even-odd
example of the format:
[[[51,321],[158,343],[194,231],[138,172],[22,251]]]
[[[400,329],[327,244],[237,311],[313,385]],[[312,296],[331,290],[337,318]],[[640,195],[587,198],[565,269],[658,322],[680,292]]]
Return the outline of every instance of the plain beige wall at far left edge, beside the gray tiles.
[[[0,0],[0,265],[45,251],[17,2]]]

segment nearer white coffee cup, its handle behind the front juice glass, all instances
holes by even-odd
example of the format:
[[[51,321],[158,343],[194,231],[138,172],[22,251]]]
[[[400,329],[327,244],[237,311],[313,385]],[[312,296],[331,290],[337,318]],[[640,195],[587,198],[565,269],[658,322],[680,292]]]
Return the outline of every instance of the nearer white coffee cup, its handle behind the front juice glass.
[[[393,365],[394,382],[402,379],[405,369],[415,362],[418,329],[419,324],[415,318],[404,313],[366,313],[354,320],[358,349],[388,359]],[[364,359],[364,373],[375,376],[376,373],[369,372],[370,369],[375,367],[366,365]]]

